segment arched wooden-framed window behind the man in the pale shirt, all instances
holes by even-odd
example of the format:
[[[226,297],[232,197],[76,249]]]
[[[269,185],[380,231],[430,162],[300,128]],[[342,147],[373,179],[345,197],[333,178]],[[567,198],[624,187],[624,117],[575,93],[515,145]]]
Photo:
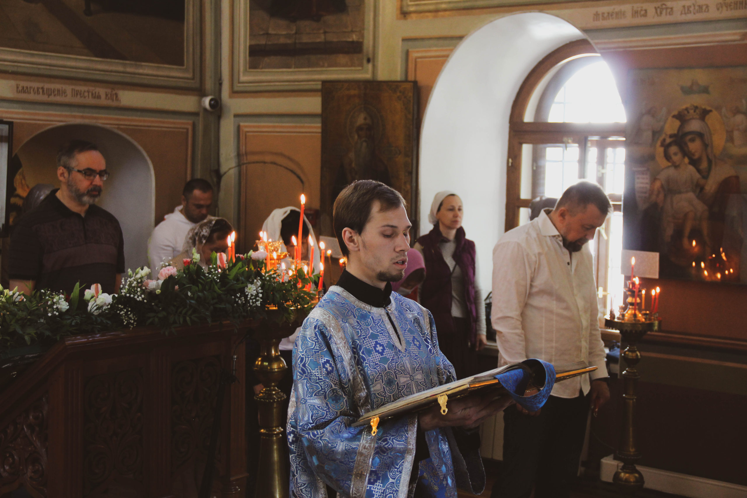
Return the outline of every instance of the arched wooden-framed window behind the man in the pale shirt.
[[[624,123],[610,68],[588,41],[578,40],[552,52],[530,72],[509,125],[506,231],[530,220],[532,199],[557,199],[580,179],[598,182],[613,202],[613,216],[591,244],[605,307],[615,297],[608,289],[620,289],[615,301],[622,302]]]

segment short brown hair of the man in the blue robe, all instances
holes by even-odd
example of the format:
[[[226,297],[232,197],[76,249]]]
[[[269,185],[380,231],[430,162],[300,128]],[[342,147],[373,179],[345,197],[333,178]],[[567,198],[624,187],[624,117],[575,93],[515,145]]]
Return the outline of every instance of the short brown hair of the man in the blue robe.
[[[332,225],[335,227],[335,236],[343,255],[347,256],[349,251],[342,240],[342,231],[350,228],[359,234],[362,233],[368,219],[371,218],[374,201],[379,201],[381,211],[390,211],[407,205],[397,190],[374,180],[353,181],[335,199]]]

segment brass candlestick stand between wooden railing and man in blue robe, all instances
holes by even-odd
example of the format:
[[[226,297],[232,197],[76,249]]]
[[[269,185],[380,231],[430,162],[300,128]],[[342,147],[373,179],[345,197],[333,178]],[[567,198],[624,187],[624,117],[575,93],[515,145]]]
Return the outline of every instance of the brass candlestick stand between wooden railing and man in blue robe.
[[[277,309],[268,314],[279,314]],[[285,439],[285,414],[282,405],[288,396],[277,385],[285,376],[288,366],[280,355],[279,344],[283,337],[293,334],[300,323],[278,323],[264,320],[256,329],[260,356],[254,371],[264,388],[254,397],[258,405],[259,465],[255,497],[288,498],[288,466]],[[297,320],[296,320],[297,321]]]

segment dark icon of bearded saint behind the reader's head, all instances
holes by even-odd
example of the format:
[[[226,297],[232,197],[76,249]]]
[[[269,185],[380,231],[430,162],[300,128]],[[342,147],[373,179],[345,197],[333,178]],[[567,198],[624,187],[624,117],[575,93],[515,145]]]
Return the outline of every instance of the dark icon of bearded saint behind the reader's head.
[[[378,180],[398,190],[418,226],[416,102],[415,81],[322,82],[322,234],[334,234],[332,205],[355,180]]]

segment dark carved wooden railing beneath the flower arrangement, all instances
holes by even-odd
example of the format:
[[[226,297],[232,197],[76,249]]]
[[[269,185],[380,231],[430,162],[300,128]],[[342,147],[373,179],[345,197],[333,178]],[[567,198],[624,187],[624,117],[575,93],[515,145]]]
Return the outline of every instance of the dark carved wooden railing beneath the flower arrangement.
[[[0,392],[0,496],[197,497],[223,370],[211,495],[244,497],[249,326],[61,340]]]

